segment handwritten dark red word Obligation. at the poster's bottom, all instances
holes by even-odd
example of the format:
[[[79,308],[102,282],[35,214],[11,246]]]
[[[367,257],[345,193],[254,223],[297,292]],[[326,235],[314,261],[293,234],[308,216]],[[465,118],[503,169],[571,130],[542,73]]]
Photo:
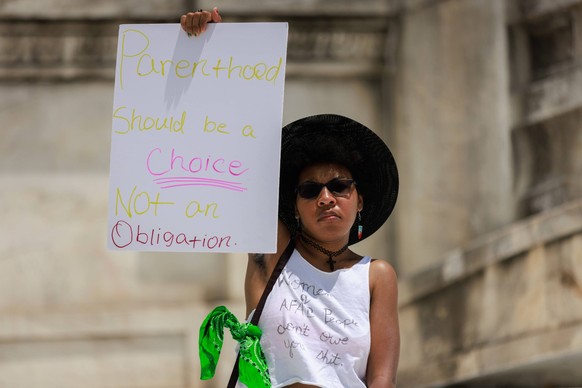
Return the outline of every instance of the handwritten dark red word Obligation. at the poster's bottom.
[[[214,250],[229,248],[236,243],[231,236],[199,236],[186,232],[173,232],[162,228],[142,228],[127,221],[119,220],[111,228],[111,241],[117,248],[126,248],[130,245],[141,245],[154,248],[191,247],[192,249]]]

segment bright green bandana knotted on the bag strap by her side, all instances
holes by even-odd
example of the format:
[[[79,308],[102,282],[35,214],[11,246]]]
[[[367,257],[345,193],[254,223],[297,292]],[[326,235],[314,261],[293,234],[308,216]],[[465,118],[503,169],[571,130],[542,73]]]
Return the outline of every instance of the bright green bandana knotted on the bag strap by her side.
[[[270,387],[269,370],[259,343],[261,329],[251,323],[241,324],[234,314],[224,306],[212,310],[200,326],[198,341],[200,379],[209,380],[214,377],[224,340],[225,327],[230,329],[232,338],[240,344],[238,363],[240,382],[252,388]]]

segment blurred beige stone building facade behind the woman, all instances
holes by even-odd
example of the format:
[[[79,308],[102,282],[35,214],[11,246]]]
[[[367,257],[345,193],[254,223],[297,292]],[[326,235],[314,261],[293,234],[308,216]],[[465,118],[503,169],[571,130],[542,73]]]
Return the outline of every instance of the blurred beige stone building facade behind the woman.
[[[223,387],[197,331],[240,254],[105,247],[117,29],[217,4],[290,23],[284,122],[374,128],[394,215],[399,386],[582,386],[582,1],[0,3],[0,387]],[[225,349],[230,344],[227,344]]]

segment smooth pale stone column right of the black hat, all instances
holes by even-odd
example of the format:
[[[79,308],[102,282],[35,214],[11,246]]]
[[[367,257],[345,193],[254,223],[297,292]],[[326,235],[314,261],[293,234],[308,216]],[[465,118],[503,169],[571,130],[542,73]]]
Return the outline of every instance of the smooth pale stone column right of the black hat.
[[[402,13],[395,73],[402,274],[512,220],[505,9],[420,1]]]

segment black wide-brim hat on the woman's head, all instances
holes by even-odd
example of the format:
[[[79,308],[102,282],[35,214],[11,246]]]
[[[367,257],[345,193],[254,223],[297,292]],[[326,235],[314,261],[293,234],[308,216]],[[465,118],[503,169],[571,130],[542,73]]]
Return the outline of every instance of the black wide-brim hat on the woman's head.
[[[349,244],[364,240],[386,222],[396,205],[398,170],[388,146],[366,126],[350,118],[322,114],[294,121],[283,128],[279,185],[279,218],[297,233],[295,200],[299,174],[310,165],[331,162],[347,167],[364,198],[358,239],[356,225]]]

